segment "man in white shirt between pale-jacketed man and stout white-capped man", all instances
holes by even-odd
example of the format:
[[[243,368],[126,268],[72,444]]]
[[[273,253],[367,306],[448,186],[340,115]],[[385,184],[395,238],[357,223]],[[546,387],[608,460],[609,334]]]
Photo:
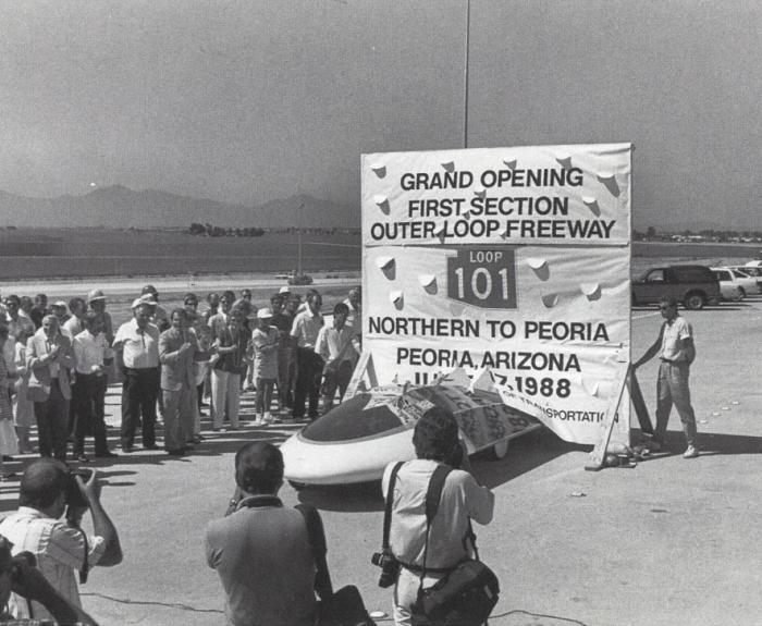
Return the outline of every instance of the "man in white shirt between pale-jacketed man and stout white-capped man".
[[[76,384],[72,388],[72,406],[76,415],[74,456],[81,463],[89,459],[85,455],[85,433],[95,439],[95,455],[101,458],[116,456],[109,450],[106,421],[106,351],[109,345],[103,335],[103,318],[88,312],[82,320],[85,328],[74,337],[76,357]]]

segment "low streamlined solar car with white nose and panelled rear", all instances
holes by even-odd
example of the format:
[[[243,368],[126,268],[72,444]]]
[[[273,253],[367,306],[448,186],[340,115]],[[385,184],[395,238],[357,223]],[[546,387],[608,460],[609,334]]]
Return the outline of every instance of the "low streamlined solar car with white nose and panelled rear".
[[[455,416],[469,454],[536,430],[539,419],[506,405],[493,390],[458,384],[389,384],[360,392],[306,426],[281,446],[285,478],[294,487],[380,479],[393,461],[415,458],[413,429],[432,406]]]

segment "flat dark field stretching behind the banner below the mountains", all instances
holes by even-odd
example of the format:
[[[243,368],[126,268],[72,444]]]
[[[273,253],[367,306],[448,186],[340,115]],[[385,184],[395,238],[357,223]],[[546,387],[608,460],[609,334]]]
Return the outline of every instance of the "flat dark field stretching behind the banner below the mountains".
[[[303,235],[302,265],[310,272],[359,271],[359,234]],[[632,244],[632,271],[656,262],[743,262],[755,244]],[[88,277],[276,274],[297,265],[296,233],[260,237],[201,237],[181,231],[118,229],[0,230],[0,280],[72,280]]]

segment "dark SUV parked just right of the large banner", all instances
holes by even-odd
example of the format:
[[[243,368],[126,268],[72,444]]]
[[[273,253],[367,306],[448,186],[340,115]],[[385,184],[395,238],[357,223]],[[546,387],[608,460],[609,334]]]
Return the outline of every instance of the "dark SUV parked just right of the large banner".
[[[697,310],[722,298],[720,281],[705,266],[666,266],[651,268],[632,281],[632,304],[657,303],[674,296],[687,309]]]

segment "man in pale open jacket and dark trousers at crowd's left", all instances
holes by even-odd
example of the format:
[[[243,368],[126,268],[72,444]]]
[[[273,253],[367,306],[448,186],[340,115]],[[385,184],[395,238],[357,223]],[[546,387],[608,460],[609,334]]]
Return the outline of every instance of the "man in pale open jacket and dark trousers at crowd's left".
[[[26,368],[33,377],[27,397],[35,403],[40,456],[52,453],[63,462],[66,461],[66,426],[72,397],[69,369],[72,367],[71,341],[61,333],[56,316],[45,316],[42,326],[26,344]]]

